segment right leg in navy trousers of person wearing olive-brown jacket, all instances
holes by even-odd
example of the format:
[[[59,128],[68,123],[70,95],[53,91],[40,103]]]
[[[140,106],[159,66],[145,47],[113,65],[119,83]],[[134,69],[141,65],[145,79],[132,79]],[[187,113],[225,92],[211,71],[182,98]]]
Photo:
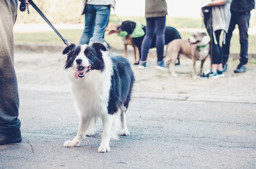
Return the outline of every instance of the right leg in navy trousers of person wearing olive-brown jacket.
[[[157,62],[163,61],[163,48],[165,44],[165,21],[166,16],[157,17],[155,19],[156,25],[156,48],[157,48]]]

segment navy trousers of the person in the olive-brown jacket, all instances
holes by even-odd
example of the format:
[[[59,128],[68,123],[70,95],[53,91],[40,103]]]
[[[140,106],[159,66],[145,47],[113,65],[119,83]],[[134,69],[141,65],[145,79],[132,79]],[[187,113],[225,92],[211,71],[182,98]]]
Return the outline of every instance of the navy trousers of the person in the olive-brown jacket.
[[[166,16],[146,18],[146,35],[142,41],[141,60],[147,59],[154,34],[156,34],[157,61],[163,60]]]

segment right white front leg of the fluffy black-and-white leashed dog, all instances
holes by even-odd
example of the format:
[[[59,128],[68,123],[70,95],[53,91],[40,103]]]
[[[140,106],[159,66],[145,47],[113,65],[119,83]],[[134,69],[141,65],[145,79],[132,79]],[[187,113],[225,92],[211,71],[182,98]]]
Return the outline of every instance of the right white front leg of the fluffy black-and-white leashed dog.
[[[104,114],[102,117],[102,123],[103,123],[103,131],[101,135],[101,143],[98,149],[99,153],[105,153],[109,152],[109,141],[110,141],[110,132],[111,132],[111,127],[113,123],[112,115],[111,114]]]

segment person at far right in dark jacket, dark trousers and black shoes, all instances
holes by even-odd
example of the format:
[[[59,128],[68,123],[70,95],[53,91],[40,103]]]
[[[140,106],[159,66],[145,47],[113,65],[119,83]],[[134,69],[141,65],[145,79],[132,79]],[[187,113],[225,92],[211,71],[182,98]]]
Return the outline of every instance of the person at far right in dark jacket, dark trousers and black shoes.
[[[245,72],[245,64],[248,62],[248,28],[251,10],[254,9],[254,0],[233,0],[231,3],[231,21],[226,35],[226,43],[222,44],[223,71],[227,70],[227,60],[230,53],[230,40],[236,24],[240,36],[240,63],[234,73]]]

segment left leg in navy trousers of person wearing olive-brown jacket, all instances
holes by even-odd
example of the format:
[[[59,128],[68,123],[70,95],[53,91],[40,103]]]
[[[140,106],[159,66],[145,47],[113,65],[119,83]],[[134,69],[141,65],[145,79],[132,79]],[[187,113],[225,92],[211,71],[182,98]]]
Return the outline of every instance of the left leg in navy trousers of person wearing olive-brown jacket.
[[[154,18],[146,18],[146,35],[142,41],[141,49],[141,61],[145,62],[147,60],[148,51],[151,46],[151,42],[155,31],[155,20]]]

